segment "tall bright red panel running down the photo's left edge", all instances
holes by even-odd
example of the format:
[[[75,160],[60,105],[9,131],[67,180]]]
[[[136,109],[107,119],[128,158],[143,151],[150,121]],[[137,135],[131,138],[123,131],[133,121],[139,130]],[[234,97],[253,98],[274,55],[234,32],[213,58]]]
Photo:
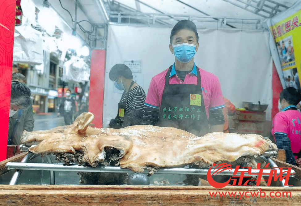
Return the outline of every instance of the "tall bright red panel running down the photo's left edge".
[[[15,0],[0,3],[0,161],[6,159],[11,70],[15,32]]]

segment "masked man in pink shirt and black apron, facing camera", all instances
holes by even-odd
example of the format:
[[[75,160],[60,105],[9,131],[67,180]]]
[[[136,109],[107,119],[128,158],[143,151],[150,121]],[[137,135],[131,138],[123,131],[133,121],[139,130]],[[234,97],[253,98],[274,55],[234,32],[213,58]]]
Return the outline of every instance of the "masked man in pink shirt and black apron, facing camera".
[[[223,132],[221,85],[217,76],[194,63],[198,46],[195,24],[179,21],[172,29],[169,45],[175,62],[152,78],[142,124],[176,127],[197,136]]]

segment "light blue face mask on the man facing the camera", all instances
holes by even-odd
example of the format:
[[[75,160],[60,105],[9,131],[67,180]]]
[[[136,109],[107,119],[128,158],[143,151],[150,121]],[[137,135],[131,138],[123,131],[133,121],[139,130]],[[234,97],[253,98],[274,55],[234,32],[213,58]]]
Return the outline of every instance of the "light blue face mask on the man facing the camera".
[[[197,45],[194,44],[176,44],[173,45],[173,54],[180,62],[187,63],[193,58],[195,54],[195,47]]]

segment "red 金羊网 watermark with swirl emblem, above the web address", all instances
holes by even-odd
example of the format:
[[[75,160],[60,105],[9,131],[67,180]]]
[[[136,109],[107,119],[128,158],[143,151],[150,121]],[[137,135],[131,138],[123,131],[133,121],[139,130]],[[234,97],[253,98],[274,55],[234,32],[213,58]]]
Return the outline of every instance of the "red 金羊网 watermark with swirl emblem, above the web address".
[[[217,165],[217,166],[216,166]],[[212,167],[214,167],[213,173],[211,174],[211,170]],[[279,181],[282,181],[283,179],[285,179],[284,181],[284,186],[292,186],[292,185],[288,185],[288,181],[290,178],[291,174],[295,174],[295,173],[290,173],[291,172],[291,167],[272,167],[269,168],[269,163],[265,165],[264,168],[261,168],[260,163],[257,163],[257,169],[256,170],[252,170],[252,167],[241,167],[241,168],[248,168],[248,169],[244,169],[244,170],[240,170],[240,165],[237,165],[235,167],[235,170],[233,171],[233,169],[231,168],[231,164],[227,164],[226,162],[224,163],[218,163],[215,164],[213,163],[213,166],[211,166],[207,172],[207,181],[209,182],[209,184],[212,187],[215,188],[223,188],[226,187],[231,180],[233,180],[233,183],[231,184],[232,186],[251,186],[249,185],[249,181],[254,181],[254,179],[248,179],[243,183],[243,178],[251,178],[252,176],[257,176],[256,180],[256,186],[259,186],[260,181],[264,180],[266,181],[266,179],[262,178],[262,174],[269,174],[269,178],[267,179],[267,186],[271,185],[272,180],[276,181],[279,178]],[[226,182],[216,182],[212,177],[225,171],[225,170],[229,170],[230,174],[231,172],[233,172],[234,176],[231,176]],[[278,171],[278,174],[277,174]],[[238,180],[238,181],[237,181]]]

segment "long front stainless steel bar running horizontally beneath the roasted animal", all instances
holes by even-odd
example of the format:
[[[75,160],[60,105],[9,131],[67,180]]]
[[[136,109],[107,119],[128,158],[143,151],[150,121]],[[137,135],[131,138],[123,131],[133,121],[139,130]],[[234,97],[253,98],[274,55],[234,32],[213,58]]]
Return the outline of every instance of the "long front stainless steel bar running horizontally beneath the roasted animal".
[[[105,173],[134,173],[132,170],[123,169],[118,166],[99,166],[99,167],[84,167],[78,165],[63,165],[63,164],[45,164],[45,163],[19,163],[19,162],[8,162],[6,163],[8,170],[21,169],[21,170],[53,170],[53,171],[78,171],[78,172],[105,172]],[[235,169],[225,170],[217,175],[232,175]],[[263,170],[262,176],[270,175],[269,169]],[[283,170],[286,171],[286,170]],[[199,174],[206,175],[208,168],[162,168],[155,172],[155,174]],[[245,172],[248,174],[248,169],[239,169],[238,172]],[[292,171],[294,172],[294,171]],[[142,172],[148,174],[148,170]],[[213,173],[213,169],[212,169]],[[252,169],[252,174],[259,173],[259,170]],[[279,174],[279,171],[277,171]],[[256,175],[254,175],[256,176]],[[291,177],[294,177],[292,174]]]

